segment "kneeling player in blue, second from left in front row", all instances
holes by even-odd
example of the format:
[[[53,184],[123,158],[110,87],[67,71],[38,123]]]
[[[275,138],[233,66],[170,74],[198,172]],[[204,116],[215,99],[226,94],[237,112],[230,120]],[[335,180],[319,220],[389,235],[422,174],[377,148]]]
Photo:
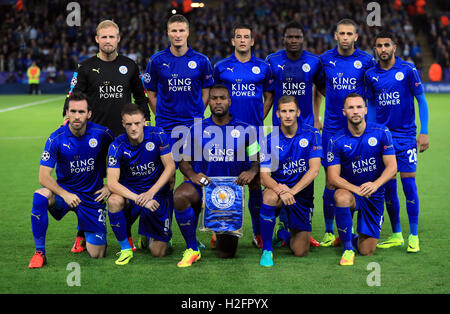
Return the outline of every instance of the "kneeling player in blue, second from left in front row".
[[[126,133],[109,146],[108,199],[111,228],[120,244],[117,265],[125,265],[133,257],[127,238],[127,220],[123,213],[130,206],[134,220],[140,215],[139,234],[148,237],[153,256],[166,255],[172,237],[173,195],[169,179],[175,163],[167,135],[161,128],[144,126],[144,113],[136,104],[122,110]]]

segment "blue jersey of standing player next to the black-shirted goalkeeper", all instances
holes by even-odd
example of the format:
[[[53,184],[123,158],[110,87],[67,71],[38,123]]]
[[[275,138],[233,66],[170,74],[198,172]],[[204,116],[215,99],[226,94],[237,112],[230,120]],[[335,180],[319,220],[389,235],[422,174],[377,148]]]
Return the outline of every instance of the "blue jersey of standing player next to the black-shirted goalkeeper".
[[[156,126],[166,133],[203,118],[202,89],[213,85],[211,63],[205,55],[189,48],[177,57],[169,46],[150,58],[142,80],[148,90],[157,92]]]

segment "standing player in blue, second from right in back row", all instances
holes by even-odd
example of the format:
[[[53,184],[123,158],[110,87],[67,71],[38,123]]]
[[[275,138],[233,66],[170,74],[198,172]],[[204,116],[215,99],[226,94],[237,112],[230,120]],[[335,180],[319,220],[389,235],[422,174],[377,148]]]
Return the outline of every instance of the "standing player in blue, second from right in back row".
[[[347,125],[342,115],[344,98],[350,93],[364,95],[364,73],[375,65],[375,59],[356,46],[358,28],[351,19],[342,19],[337,23],[334,39],[336,47],[320,55],[326,82],[325,118],[322,130],[322,143]],[[322,159],[325,168],[326,184],[323,193],[323,214],[325,234],[321,246],[335,244],[334,235],[334,187],[327,179],[326,158]]]

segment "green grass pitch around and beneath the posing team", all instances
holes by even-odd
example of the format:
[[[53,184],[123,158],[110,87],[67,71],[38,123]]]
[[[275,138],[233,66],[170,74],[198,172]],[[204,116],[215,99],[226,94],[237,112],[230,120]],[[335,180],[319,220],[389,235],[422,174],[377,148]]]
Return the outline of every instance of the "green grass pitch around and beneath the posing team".
[[[221,260],[212,249],[202,252],[193,267],[176,263],[185,248],[178,225],[173,223],[173,252],[153,258],[138,251],[126,266],[116,266],[119,245],[108,225],[106,258],[94,260],[87,252],[73,254],[76,217],[49,218],[48,264],[27,268],[34,252],[30,211],[32,195],[39,188],[39,159],[45,140],[62,121],[63,95],[0,96],[0,293],[148,293],[148,294],[299,294],[299,293],[449,293],[450,269],[450,121],[449,95],[427,95],[430,111],[430,149],[418,155],[417,184],[420,193],[419,236],[421,252],[407,254],[406,247],[376,250],[370,257],[356,256],[353,267],[338,265],[342,248],[311,248],[306,258],[286,248],[275,249],[273,268],[259,266],[260,251],[251,245],[251,221],[245,213],[244,236],[237,256]],[[30,105],[31,104],[31,105]],[[27,105],[27,106],[23,106]],[[22,106],[20,108],[14,108]],[[14,110],[5,110],[12,108]],[[323,111],[323,106],[322,106]],[[178,176],[178,183],[181,177]],[[324,172],[315,181],[315,213],[312,235],[324,232],[322,193]],[[401,221],[405,239],[409,224],[399,184]],[[390,234],[387,215],[381,238]],[[133,235],[137,237],[137,224]],[[209,247],[210,234],[199,233]],[[68,284],[71,262],[80,265],[80,285]],[[373,262],[377,264],[373,264]],[[377,266],[372,268],[373,265]],[[376,274],[374,271],[379,271]],[[374,277],[375,275],[380,275]],[[379,279],[378,285],[369,285]]]

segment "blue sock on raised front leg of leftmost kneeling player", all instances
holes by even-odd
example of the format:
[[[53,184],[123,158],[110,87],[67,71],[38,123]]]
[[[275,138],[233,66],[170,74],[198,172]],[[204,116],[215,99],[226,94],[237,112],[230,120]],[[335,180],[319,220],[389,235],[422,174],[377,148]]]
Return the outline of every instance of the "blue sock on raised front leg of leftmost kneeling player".
[[[33,207],[31,208],[31,231],[34,237],[36,251],[45,255],[45,235],[48,228],[48,199],[39,194],[33,195]]]

